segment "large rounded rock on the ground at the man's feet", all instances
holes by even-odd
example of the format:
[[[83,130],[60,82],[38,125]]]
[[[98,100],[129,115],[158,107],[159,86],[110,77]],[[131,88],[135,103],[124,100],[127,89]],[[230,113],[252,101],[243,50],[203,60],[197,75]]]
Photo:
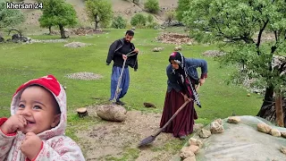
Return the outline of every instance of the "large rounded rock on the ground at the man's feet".
[[[103,105],[97,107],[97,115],[107,121],[123,122],[126,120],[127,111],[123,106]]]

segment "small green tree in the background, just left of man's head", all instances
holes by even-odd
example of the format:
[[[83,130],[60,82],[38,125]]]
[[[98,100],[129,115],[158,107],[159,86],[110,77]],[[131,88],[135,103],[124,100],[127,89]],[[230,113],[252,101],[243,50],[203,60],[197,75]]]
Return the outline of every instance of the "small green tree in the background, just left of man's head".
[[[105,0],[88,0],[86,11],[90,21],[95,22],[95,29],[98,29],[98,23],[101,26],[107,26],[113,18],[112,4]]]

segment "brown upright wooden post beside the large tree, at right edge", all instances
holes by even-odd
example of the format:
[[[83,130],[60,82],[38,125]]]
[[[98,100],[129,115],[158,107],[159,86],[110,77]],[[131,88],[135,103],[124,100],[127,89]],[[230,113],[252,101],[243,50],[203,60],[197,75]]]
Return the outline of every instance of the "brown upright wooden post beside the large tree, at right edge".
[[[275,110],[276,110],[276,122],[280,127],[284,127],[283,109],[282,109],[282,93],[280,91],[275,92]]]

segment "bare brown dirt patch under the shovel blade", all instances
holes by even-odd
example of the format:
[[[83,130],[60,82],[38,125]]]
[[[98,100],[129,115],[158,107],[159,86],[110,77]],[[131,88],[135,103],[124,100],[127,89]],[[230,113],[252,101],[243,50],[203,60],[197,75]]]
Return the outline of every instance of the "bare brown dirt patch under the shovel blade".
[[[94,108],[88,108],[88,114],[97,116]],[[87,160],[169,160],[176,151],[170,148],[170,142],[183,143],[172,134],[161,133],[146,148],[137,148],[139,142],[158,130],[161,114],[143,114],[129,111],[124,123],[103,122],[79,131],[82,151]],[[171,146],[172,147],[172,146]],[[134,155],[134,156],[132,156]]]

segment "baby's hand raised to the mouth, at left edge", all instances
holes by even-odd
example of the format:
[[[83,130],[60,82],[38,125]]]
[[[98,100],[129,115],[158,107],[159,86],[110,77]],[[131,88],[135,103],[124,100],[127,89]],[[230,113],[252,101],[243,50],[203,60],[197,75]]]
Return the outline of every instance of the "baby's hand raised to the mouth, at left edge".
[[[9,119],[2,124],[1,130],[5,133],[13,133],[21,131],[27,125],[26,119],[19,114],[13,114]]]

